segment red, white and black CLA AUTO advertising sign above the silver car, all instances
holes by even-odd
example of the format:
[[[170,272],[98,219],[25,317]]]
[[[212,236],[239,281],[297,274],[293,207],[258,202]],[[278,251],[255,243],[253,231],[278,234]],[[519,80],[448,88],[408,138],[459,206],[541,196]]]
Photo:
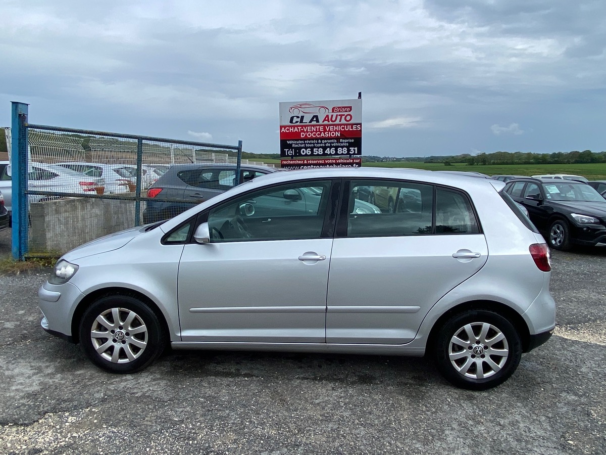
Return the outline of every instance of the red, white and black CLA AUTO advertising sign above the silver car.
[[[313,167],[359,166],[362,155],[362,99],[280,103],[282,167],[303,167],[297,158],[316,161]],[[290,158],[290,160],[289,160]],[[293,163],[290,163],[293,161]],[[308,167],[308,166],[305,166]]]

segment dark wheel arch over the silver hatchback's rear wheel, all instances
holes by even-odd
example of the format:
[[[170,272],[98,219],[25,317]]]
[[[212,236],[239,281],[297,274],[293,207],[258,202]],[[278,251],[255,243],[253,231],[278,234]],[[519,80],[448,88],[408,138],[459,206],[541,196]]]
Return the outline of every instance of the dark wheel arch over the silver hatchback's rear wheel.
[[[436,320],[427,338],[427,348],[425,349],[425,353],[427,354],[428,352],[433,352],[436,340],[438,339],[438,334],[450,318],[458,314],[474,310],[493,311],[496,314],[507,318],[507,320],[511,322],[511,325],[513,325],[518,332],[520,341],[522,342],[522,352],[528,352],[528,348],[530,346],[530,331],[528,330],[528,325],[524,321],[521,314],[510,306],[507,306],[501,302],[495,302],[494,300],[471,300],[470,302],[465,302],[454,306],[453,308],[444,312],[444,314],[442,314],[438,320]]]

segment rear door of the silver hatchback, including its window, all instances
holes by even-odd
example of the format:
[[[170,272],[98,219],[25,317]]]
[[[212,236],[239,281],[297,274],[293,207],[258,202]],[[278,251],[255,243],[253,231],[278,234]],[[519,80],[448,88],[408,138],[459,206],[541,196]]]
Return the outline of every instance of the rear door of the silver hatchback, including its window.
[[[348,194],[364,180],[352,181]],[[467,195],[429,184],[373,183],[421,200],[339,218],[328,278],[327,343],[402,344],[430,308],[484,266],[488,247]],[[435,194],[436,203],[433,203]],[[413,198],[416,200],[417,198]]]

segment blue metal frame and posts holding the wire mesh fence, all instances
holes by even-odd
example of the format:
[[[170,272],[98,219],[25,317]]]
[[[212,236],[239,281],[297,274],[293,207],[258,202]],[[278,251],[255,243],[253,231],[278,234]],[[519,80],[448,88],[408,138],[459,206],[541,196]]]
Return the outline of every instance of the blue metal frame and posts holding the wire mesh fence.
[[[47,125],[36,125],[28,123],[28,106],[26,103],[19,103],[12,101],[11,106],[11,120],[12,120],[12,144],[10,146],[10,163],[11,163],[11,180],[12,180],[12,254],[15,260],[24,260],[28,254],[28,225],[29,225],[29,207],[28,207],[28,195],[42,195],[52,196],[54,193],[39,190],[28,190],[27,177],[28,177],[28,130],[46,130],[52,132],[62,133],[76,133],[91,136],[105,136],[109,138],[122,138],[137,141],[137,155],[136,155],[136,190],[135,196],[126,198],[127,200],[135,201],[135,226],[141,224],[139,219],[139,209],[141,207],[141,201],[148,200],[147,197],[141,196],[141,182],[142,182],[142,162],[143,162],[143,141],[151,142],[163,142],[171,144],[179,144],[185,146],[194,147],[209,147],[213,149],[223,150],[235,150],[238,152],[236,160],[236,181],[235,184],[239,184],[240,169],[242,162],[242,141],[238,141],[237,146],[230,146],[225,144],[211,144],[202,143],[195,141],[182,141],[173,140],[167,138],[156,138],[151,136],[140,136],[132,134],[122,134],[95,130],[83,130],[75,128],[65,128],[58,126],[47,126]],[[79,197],[79,198],[104,198],[101,195],[84,195],[84,194],[70,194],[65,193],[65,197]],[[105,197],[107,198],[107,197]]]

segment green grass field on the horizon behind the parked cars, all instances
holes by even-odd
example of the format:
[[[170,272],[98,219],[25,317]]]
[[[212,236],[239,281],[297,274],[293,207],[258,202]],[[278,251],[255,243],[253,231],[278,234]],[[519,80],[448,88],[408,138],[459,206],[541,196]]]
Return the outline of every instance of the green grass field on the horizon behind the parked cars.
[[[267,164],[280,164],[280,160],[263,160]],[[473,170],[482,174],[496,175],[538,175],[538,174],[574,174],[589,180],[606,180],[606,163],[592,164],[501,164],[494,166],[468,166],[465,163],[419,163],[418,161],[392,161],[389,163],[363,163],[362,166],[375,167],[412,167],[425,170]]]

